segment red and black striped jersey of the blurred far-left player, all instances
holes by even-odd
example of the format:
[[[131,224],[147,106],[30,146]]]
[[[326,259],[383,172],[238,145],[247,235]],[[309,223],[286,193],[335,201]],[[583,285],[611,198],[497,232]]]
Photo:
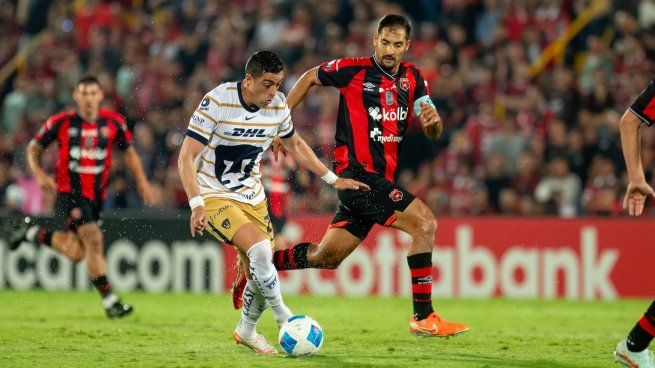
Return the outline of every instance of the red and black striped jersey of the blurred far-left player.
[[[34,139],[42,147],[54,141],[59,143],[56,174],[59,193],[101,201],[106,197],[113,147],[126,150],[132,144],[132,133],[120,114],[100,109],[93,122],[85,121],[76,111],[54,115]]]

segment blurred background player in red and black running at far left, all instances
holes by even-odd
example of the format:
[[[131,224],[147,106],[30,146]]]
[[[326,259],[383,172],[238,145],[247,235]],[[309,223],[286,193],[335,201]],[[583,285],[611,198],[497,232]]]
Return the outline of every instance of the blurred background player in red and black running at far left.
[[[101,109],[102,89],[95,77],[84,77],[75,86],[74,111],[52,116],[27,147],[27,161],[39,188],[57,193],[57,215],[66,219],[68,231],[35,225],[28,217],[11,237],[11,249],[24,241],[39,243],[64,254],[71,261],[86,260],[93,285],[100,292],[109,318],[123,317],[132,307],[122,304],[107,281],[102,231],[98,225],[105,199],[111,155],[116,146],[136,179],[145,204],[153,204],[150,184],[132,144],[132,133],[116,112]],[[41,167],[41,154],[59,143],[56,180]]]

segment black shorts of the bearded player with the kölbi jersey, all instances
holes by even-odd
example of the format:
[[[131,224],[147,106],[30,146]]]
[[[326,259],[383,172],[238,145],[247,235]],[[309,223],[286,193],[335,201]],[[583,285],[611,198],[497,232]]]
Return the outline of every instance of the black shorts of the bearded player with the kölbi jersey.
[[[346,229],[360,239],[366,238],[375,224],[391,226],[396,221],[395,212],[405,211],[416,198],[383,176],[359,168],[347,168],[339,176],[371,187],[368,192],[340,190],[338,195],[341,203],[330,223],[330,228]]]

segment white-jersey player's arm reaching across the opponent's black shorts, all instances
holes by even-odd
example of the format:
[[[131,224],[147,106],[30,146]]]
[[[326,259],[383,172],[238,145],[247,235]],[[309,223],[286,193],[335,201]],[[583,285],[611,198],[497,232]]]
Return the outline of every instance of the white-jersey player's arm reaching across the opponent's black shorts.
[[[309,147],[307,142],[300,137],[300,134],[295,133],[291,137],[282,139],[282,143],[287,152],[291,153],[298,163],[307,168],[315,175],[321,177],[328,184],[332,185],[337,190],[371,190],[371,188],[357,180],[345,179],[337,177],[330,171],[321,160],[316,157],[314,151]]]

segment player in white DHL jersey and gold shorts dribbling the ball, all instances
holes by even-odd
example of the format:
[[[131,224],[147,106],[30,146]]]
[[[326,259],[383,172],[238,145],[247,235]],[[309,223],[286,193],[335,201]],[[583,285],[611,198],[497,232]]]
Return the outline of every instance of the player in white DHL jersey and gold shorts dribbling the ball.
[[[247,271],[241,319],[232,337],[256,353],[277,351],[257,333],[270,307],[278,326],[291,317],[271,261],[273,229],[261,183],[259,162],[273,138],[280,137],[298,163],[338,190],[368,190],[367,185],[337,177],[295,134],[291,112],[278,92],[282,61],[260,51],[246,63],[240,82],[223,83],[207,93],[189,121],[178,168],[192,209],[191,235],[207,230],[234,245]]]

